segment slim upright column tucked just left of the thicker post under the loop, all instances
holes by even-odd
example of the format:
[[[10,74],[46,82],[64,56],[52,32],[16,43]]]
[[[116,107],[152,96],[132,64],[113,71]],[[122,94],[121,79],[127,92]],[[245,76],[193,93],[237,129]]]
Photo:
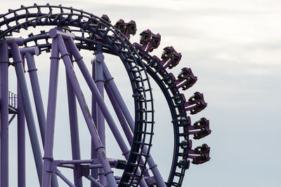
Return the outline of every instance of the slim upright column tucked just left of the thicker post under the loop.
[[[93,81],[96,81],[96,60],[92,60],[92,77]],[[93,123],[95,125],[97,124],[97,118],[96,118],[96,97],[92,94],[92,116],[93,116]],[[91,159],[98,158],[98,154],[95,151],[95,147],[93,146],[93,141],[91,141]],[[91,176],[93,176],[93,179],[98,179],[98,169],[91,169]],[[95,183],[91,181],[91,187],[96,187]]]

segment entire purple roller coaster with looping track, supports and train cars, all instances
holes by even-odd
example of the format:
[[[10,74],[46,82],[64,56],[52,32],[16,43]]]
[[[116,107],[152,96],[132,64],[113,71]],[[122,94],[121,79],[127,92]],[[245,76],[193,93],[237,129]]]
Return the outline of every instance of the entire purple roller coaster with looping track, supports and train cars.
[[[209,120],[201,118],[191,123],[190,114],[202,111],[207,103],[202,93],[195,92],[189,99],[180,90],[187,90],[197,81],[190,68],[183,68],[178,76],[169,73],[181,60],[181,53],[170,46],[164,48],[161,60],[150,52],[158,48],[161,36],[149,29],[141,32],[140,43],[130,43],[136,34],[136,23],[119,20],[110,24],[107,15],[96,15],[63,6],[21,6],[0,15],[0,183],[8,187],[8,125],[18,119],[18,186],[25,186],[25,122],[30,136],[34,162],[40,186],[57,187],[58,177],[68,186],[83,186],[82,177],[91,186],[181,186],[185,169],[192,163],[202,164],[209,158],[209,146],[203,144],[192,149],[190,134],[201,139],[211,133]],[[32,27],[49,26],[48,31],[30,34],[27,38],[13,38],[14,33]],[[22,46],[22,47],[21,47]],[[79,50],[94,52],[91,72],[86,67]],[[34,55],[51,53],[48,106],[45,109],[37,75]],[[126,106],[122,95],[107,69],[104,55],[117,55],[124,64],[131,82],[135,116]],[[67,99],[70,116],[72,160],[53,158],[54,128],[58,90],[58,64],[63,61],[67,75]],[[74,63],[84,77],[92,94],[91,110],[81,91]],[[27,71],[25,71],[25,65]],[[15,95],[8,90],[8,68],[15,68],[18,90]],[[32,93],[27,89],[25,75],[29,74]],[[162,90],[171,111],[174,127],[174,157],[168,179],[163,179],[155,160],[150,155],[154,121],[154,105],[150,79]],[[125,137],[104,102],[105,93],[117,113]],[[36,110],[32,110],[31,97]],[[77,102],[79,106],[77,106]],[[91,134],[91,158],[81,160],[77,108],[81,109]],[[37,115],[34,116],[34,113]],[[9,115],[11,118],[8,118]],[[37,117],[40,134],[37,134]],[[125,160],[107,158],[105,153],[105,121],[115,137]],[[129,147],[126,145],[129,142]],[[44,146],[41,153],[39,141]],[[67,179],[60,167],[73,169],[73,181]],[[116,176],[112,168],[122,169]],[[28,176],[27,176],[28,177]]]

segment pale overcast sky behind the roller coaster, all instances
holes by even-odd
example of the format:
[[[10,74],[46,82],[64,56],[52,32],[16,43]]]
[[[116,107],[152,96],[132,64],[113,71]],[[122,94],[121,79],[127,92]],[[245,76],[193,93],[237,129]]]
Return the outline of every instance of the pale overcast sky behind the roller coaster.
[[[183,186],[280,186],[281,1],[50,0],[48,3],[72,6],[98,16],[107,14],[112,23],[120,18],[125,22],[135,20],[138,32],[131,39],[132,42],[138,41],[138,34],[143,30],[150,29],[155,34],[162,35],[161,45],[153,55],[159,57],[162,48],[166,46],[174,46],[181,52],[182,60],[172,72],[177,75],[182,67],[190,67],[198,76],[197,83],[184,92],[185,97],[200,91],[204,93],[205,101],[209,104],[204,111],[192,116],[192,121],[204,116],[210,120],[213,130],[209,137],[200,141],[193,140],[195,146],[203,143],[211,146],[211,160],[204,165],[191,165],[186,172]],[[32,4],[33,1],[26,0],[24,5]],[[37,4],[46,2],[37,1]],[[5,1],[1,4],[0,12],[6,13],[8,8],[19,8],[20,5],[15,0]],[[40,57],[37,57],[37,60],[43,61]],[[118,59],[108,56],[106,60],[115,62]],[[38,66],[41,67],[41,72],[48,75],[48,65],[46,69],[42,64]],[[122,82],[126,82],[127,77],[118,74],[118,71],[122,71],[122,65],[110,66],[114,67],[112,74],[115,75],[117,83],[120,83],[122,93],[126,95],[126,89],[131,88],[126,88],[126,83]],[[60,69],[60,77],[63,80],[60,83],[63,87],[63,66]],[[39,77],[42,85],[48,83],[46,75]],[[173,151],[173,137],[166,138],[172,134],[171,119],[159,88],[155,84],[152,86],[156,111],[152,155],[156,158],[155,161],[163,171],[164,177],[167,177]],[[41,89],[46,100],[47,88]],[[88,95],[89,98],[90,96]],[[64,99],[63,95],[59,97]],[[133,109],[130,100],[126,99],[126,102]],[[60,107],[63,105],[58,106],[58,110]],[[65,112],[61,112],[60,116],[67,119],[66,108],[61,111],[63,109]],[[168,117],[162,118],[163,116]],[[57,121],[63,122],[60,118],[57,118]],[[81,121],[83,122],[82,119]],[[13,123],[10,131],[10,144],[13,146],[16,146],[16,132],[13,132],[16,130],[15,125],[16,123]],[[63,144],[61,139],[69,140],[66,130],[67,136],[59,134],[59,131],[65,129],[60,126],[57,127],[58,146],[55,146],[54,150],[54,155],[57,155],[55,159],[63,159],[60,156],[65,156],[60,153],[63,152],[59,147]],[[86,133],[86,129],[81,130],[81,133],[84,132]],[[86,140],[81,141],[83,145],[86,144],[84,151],[89,155],[89,145],[86,143],[89,140]],[[107,142],[107,145],[110,146],[110,143]],[[15,151],[10,150],[10,153],[11,160],[16,160]],[[111,149],[107,149],[107,153],[110,154]],[[32,159],[29,162],[30,165],[33,164]],[[10,165],[16,167],[16,163],[10,162]],[[34,173],[33,166],[28,166],[28,169],[30,173]],[[12,169],[10,183],[15,186],[12,177],[16,177],[16,172],[11,171]],[[30,175],[27,174],[30,177],[27,183],[33,186],[34,178]],[[62,183],[62,186],[65,184]]]

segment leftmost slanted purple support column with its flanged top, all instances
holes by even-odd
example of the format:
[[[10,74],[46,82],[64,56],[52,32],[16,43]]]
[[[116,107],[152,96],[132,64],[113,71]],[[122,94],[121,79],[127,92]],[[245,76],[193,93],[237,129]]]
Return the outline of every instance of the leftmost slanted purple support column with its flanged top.
[[[11,52],[13,57],[13,64],[15,65],[15,74],[18,78],[18,85],[20,87],[20,94],[22,96],[22,105],[23,109],[25,110],[25,118],[27,120],[27,128],[30,134],[30,141],[32,144],[32,151],[34,155],[35,165],[37,168],[37,174],[39,183],[41,184],[42,178],[42,155],[39,146],[39,140],[37,136],[37,130],[34,122],[34,117],[32,113],[32,106],[30,104],[30,96],[27,90],[27,83],[25,80],[25,72],[22,66],[22,59],[20,57],[20,49],[18,48],[19,45],[23,44],[23,39],[11,39],[9,41],[9,45],[11,46]]]

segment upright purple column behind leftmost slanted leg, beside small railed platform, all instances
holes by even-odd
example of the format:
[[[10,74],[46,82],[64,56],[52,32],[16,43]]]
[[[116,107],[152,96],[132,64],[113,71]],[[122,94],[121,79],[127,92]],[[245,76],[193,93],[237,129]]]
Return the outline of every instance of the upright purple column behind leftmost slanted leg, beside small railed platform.
[[[18,187],[25,187],[25,111],[18,86]]]

